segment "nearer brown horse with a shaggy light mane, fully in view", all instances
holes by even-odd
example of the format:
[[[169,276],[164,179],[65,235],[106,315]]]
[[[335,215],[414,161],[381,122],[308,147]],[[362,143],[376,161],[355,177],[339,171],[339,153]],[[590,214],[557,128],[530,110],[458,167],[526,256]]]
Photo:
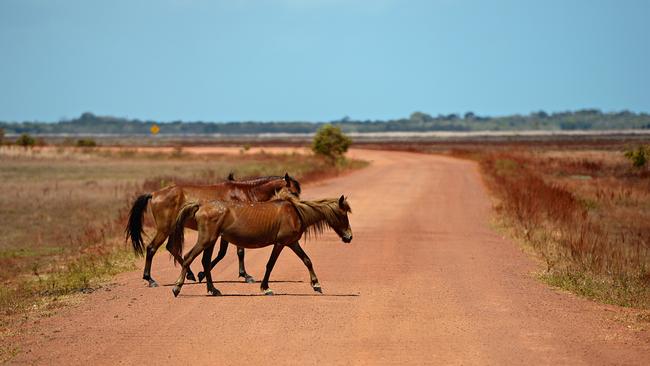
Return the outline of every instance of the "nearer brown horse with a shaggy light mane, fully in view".
[[[192,220],[196,223],[199,237],[196,245],[180,262],[183,268],[172,292],[174,296],[178,296],[190,264],[203,251],[202,263],[208,293],[221,295],[212,283],[210,270],[224,257],[229,242],[243,248],[273,245],[261,284],[264,294],[273,294],[269,289],[269,277],[275,261],[285,246],[291,248],[302,259],[309,270],[314,291],[322,292],[311,260],[298,244],[298,240],[305,232],[318,234],[329,227],[341,237],[343,242],[351,242],[349,212],[351,212],[350,205],[343,196],[339,199],[300,201],[284,193],[277,195],[272,201],[259,203],[224,201],[188,203],[180,210],[174,231],[169,236],[174,259],[180,262],[179,258],[183,252],[183,231],[187,221]],[[210,263],[212,249],[219,236],[221,236],[219,253],[215,262]]]

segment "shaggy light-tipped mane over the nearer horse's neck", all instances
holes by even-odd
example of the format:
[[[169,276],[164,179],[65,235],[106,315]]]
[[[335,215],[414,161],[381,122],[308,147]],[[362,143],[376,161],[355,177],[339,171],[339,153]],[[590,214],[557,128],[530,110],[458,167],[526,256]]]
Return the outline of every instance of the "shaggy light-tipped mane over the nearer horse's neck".
[[[273,199],[288,201],[293,205],[302,225],[305,227],[307,236],[318,236],[340,220],[336,214],[336,210],[340,210],[338,198],[301,201],[287,190],[282,189],[276,193]],[[343,209],[351,213],[352,209],[347,201],[344,202],[344,205]]]

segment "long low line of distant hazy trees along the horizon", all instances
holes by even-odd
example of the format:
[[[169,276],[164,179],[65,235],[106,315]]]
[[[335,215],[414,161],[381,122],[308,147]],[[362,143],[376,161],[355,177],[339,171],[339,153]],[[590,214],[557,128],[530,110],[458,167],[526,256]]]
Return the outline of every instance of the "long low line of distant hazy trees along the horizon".
[[[409,118],[387,121],[360,121],[344,117],[330,122],[160,122],[96,116],[84,113],[79,118],[47,122],[0,122],[5,133],[30,134],[148,134],[157,124],[161,134],[259,134],[312,133],[324,123],[340,126],[345,132],[395,131],[517,131],[517,130],[611,130],[649,129],[650,115],[630,111],[603,113],[597,109],[574,112],[534,112],[502,117],[447,114],[431,116],[414,112]]]

